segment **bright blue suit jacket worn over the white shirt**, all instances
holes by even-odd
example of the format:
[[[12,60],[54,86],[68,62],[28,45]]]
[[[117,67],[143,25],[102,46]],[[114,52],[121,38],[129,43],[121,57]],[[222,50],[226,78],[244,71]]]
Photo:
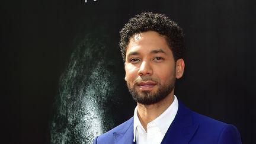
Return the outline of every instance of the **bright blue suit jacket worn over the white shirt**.
[[[114,129],[97,136],[94,144],[133,143],[133,117]],[[179,102],[178,112],[162,140],[162,144],[240,144],[235,126],[189,110]]]

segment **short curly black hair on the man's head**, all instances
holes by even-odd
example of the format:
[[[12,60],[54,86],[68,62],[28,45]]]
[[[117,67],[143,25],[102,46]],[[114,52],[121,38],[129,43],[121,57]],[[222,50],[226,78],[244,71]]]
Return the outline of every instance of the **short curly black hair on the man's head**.
[[[152,12],[142,12],[130,18],[128,23],[124,25],[120,33],[120,50],[123,60],[126,60],[126,48],[130,38],[135,34],[146,31],[155,31],[167,40],[167,43],[174,55],[174,60],[183,58],[185,52],[184,33],[183,30],[170,20],[165,14],[153,14]]]

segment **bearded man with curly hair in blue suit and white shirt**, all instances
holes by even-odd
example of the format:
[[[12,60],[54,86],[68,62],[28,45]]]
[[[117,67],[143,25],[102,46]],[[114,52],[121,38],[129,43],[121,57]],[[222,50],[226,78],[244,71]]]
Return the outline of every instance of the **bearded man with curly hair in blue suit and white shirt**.
[[[189,110],[174,95],[184,72],[184,34],[163,14],[142,12],[120,31],[125,81],[134,116],[94,143],[241,143],[235,126]]]

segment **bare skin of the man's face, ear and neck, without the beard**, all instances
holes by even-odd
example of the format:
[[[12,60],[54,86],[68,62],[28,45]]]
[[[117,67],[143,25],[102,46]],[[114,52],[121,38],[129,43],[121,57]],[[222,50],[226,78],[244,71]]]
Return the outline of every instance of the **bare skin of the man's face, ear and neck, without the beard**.
[[[155,31],[146,31],[135,34],[127,46],[125,81],[131,87],[135,87],[139,93],[156,92],[161,85],[169,81],[175,81],[183,76],[184,60],[178,59],[175,62],[171,49],[165,37]],[[137,79],[148,76],[157,79],[156,82],[140,81]],[[145,105],[137,103],[137,114],[145,130],[149,122],[160,116],[174,101],[174,89],[163,100],[155,104]]]

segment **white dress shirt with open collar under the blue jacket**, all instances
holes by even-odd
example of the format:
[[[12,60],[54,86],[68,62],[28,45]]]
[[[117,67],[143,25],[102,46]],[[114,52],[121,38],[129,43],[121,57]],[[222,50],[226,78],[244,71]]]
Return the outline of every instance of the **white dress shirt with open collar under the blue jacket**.
[[[137,144],[160,144],[165,136],[169,126],[171,126],[174,117],[178,111],[178,100],[174,95],[174,101],[160,116],[147,124],[147,132],[143,128],[137,116],[137,107],[135,108],[133,121],[133,142]]]

